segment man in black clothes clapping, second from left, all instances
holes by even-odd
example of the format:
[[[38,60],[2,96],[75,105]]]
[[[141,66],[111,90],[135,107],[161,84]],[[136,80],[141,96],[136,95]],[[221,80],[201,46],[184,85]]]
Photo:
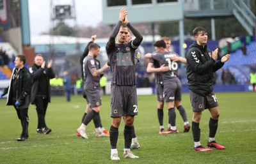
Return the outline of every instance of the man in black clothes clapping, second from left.
[[[29,68],[32,75],[31,103],[35,104],[38,116],[36,133],[44,133],[45,135],[51,132],[51,129],[45,123],[47,106],[51,102],[51,86],[49,81],[50,78],[55,77],[51,66],[52,61],[49,61],[46,67],[42,54],[37,54],[35,64]]]

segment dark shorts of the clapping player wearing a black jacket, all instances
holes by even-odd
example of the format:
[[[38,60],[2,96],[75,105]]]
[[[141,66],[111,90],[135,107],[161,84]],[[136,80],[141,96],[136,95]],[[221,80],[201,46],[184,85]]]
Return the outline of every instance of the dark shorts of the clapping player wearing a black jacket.
[[[189,90],[189,94],[193,112],[200,112],[206,108],[214,108],[219,106],[216,95],[213,92],[209,93],[205,97],[194,93],[191,90]]]

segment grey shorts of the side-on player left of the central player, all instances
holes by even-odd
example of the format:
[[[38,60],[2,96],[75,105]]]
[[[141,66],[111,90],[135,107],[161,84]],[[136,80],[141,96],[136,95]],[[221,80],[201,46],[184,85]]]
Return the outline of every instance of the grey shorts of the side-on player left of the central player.
[[[86,94],[86,100],[90,107],[99,107],[101,105],[101,98],[100,98],[100,87],[97,89],[86,89],[84,90]]]

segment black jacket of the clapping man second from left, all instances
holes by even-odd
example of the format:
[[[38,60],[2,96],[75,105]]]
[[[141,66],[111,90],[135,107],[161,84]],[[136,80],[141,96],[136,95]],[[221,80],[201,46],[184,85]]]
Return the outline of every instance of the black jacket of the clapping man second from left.
[[[47,89],[47,98],[49,102],[51,102],[51,86],[50,86],[50,78],[55,77],[55,73],[52,71],[52,68],[38,68],[36,64],[33,64],[31,68],[29,68],[29,71],[32,75],[32,88],[31,88],[31,103],[33,104],[36,98],[37,90],[38,90],[38,79],[43,76],[44,71],[46,73],[46,82],[47,86],[45,86],[45,89]]]

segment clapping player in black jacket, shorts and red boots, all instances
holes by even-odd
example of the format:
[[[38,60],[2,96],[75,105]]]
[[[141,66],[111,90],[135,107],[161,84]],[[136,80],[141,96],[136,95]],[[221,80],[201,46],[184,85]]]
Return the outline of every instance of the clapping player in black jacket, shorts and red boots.
[[[220,61],[216,61],[218,57],[218,48],[212,53],[207,48],[207,31],[203,27],[196,27],[193,30],[196,42],[193,43],[186,55],[187,59],[187,78],[190,93],[190,101],[193,108],[192,133],[194,139],[195,151],[212,151],[202,147],[200,144],[200,128],[199,123],[202,112],[208,108],[211,113],[209,121],[209,140],[208,147],[216,149],[225,149],[224,146],[217,144],[215,135],[218,128],[218,119],[220,111],[216,95],[213,92],[213,73],[219,70],[230,58],[230,54],[221,57]]]

